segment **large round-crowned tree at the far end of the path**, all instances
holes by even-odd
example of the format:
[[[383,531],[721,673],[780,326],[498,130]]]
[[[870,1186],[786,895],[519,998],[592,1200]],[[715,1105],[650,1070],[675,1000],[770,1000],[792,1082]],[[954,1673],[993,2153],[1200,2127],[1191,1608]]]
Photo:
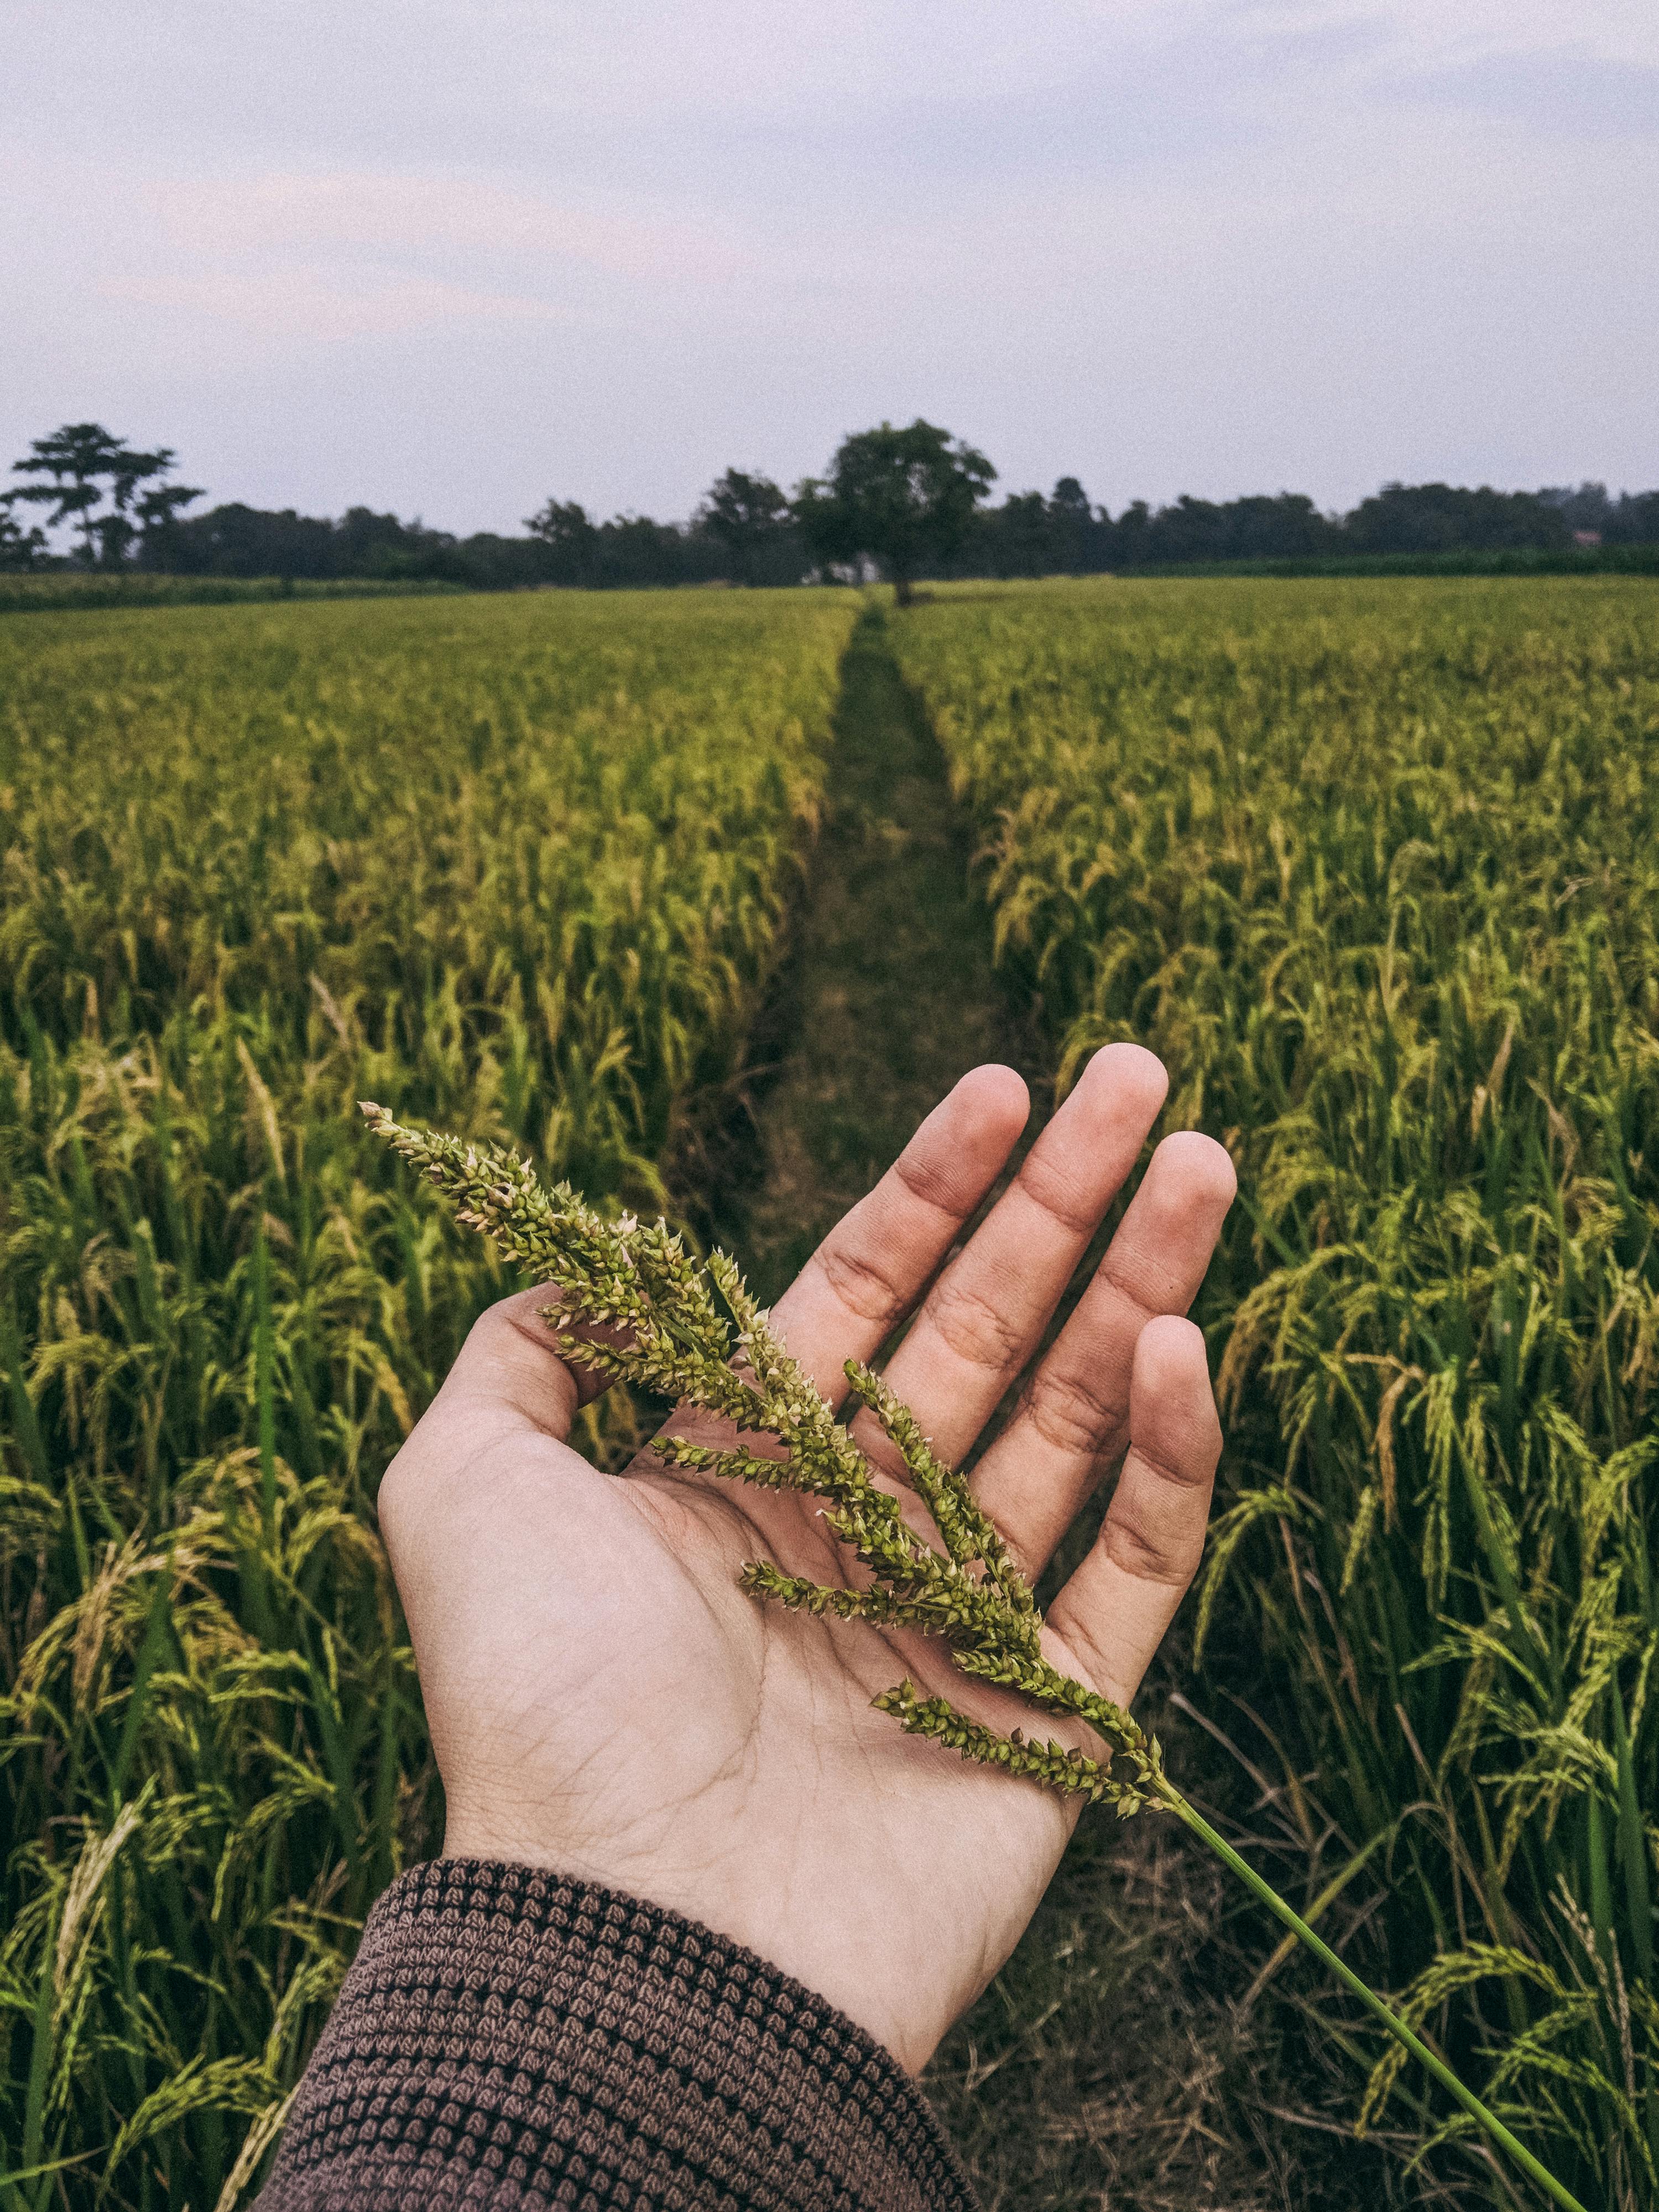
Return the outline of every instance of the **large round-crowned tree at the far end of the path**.
[[[883,422],[843,438],[827,480],[799,487],[794,518],[821,560],[878,560],[909,606],[918,568],[949,560],[967,540],[993,478],[984,453],[936,422]]]

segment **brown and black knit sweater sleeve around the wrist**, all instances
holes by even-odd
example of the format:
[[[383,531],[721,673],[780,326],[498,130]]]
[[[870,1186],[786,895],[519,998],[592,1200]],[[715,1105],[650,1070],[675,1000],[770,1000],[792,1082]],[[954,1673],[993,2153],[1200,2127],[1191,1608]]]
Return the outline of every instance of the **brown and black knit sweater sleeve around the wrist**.
[[[973,2212],[898,2062],[659,1905],[493,1860],[369,1913],[257,2212]]]

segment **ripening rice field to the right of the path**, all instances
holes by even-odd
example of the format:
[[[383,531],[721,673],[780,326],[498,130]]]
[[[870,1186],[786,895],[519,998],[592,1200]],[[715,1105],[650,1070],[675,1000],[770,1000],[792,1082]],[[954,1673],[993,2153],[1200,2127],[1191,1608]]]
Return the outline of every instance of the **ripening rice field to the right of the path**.
[[[1648,2205],[1659,597],[1042,584],[894,644],[1055,1055],[1155,1046],[1239,1164],[1194,1697],[1349,1955]]]

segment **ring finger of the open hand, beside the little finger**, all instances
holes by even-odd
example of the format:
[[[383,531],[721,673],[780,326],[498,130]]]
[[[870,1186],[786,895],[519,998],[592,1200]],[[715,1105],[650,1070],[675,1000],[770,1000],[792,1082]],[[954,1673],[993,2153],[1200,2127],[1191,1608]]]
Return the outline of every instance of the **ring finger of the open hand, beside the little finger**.
[[[1135,1345],[1199,1294],[1237,1190],[1225,1150],[1166,1137],[1077,1310],[973,1471],[980,1504],[1033,1579],[1128,1444]]]

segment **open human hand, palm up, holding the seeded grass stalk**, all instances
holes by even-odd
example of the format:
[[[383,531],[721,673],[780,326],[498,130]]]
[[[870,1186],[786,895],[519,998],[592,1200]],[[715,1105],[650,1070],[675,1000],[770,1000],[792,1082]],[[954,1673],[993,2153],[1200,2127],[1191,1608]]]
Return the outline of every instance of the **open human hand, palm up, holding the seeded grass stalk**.
[[[933,1281],[1026,1119],[1013,1071],[962,1077],[779,1301],[794,1358],[841,1402],[843,1363],[874,1358],[920,1301],[887,1378],[960,1462],[1037,1349],[1164,1093],[1150,1053],[1097,1053]],[[1221,1146],[1164,1139],[973,1471],[1035,1579],[1121,1460],[1044,1650],[1124,1705],[1203,1548],[1221,1438],[1203,1338],[1181,1316],[1232,1190]],[[611,1478],[571,1451],[595,1385],[553,1349],[546,1303],[531,1290],[484,1314],[380,1486],[445,1778],[445,1851],[553,1867],[701,1920],[918,2070],[1018,1942],[1077,1798],[967,1765],[869,1710],[907,1674],[995,1728],[1031,1723],[938,1641],[739,1590],[754,1555],[845,1579],[816,1500],[670,1471],[650,1451]],[[703,1413],[670,1427],[730,1442]],[[867,1413],[854,1436],[894,1464]],[[1044,1721],[1044,1734],[1093,1747],[1084,1728]]]

